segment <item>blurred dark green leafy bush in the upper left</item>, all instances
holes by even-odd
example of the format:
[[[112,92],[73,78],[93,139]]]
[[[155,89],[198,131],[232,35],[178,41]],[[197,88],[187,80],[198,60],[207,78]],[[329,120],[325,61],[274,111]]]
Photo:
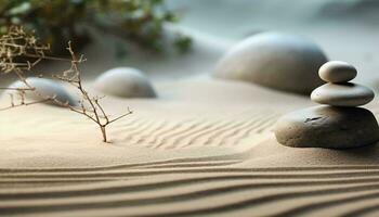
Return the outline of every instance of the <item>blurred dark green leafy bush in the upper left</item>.
[[[68,40],[84,44],[86,26],[164,51],[164,25],[177,20],[164,0],[0,0],[0,34],[10,25],[23,25],[55,52]],[[191,39],[178,35],[173,46],[186,51]]]

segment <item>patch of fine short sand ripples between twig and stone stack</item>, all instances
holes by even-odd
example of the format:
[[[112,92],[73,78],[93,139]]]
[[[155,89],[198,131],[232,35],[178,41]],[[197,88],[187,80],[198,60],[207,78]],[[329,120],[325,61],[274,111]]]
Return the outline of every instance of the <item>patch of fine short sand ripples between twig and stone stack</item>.
[[[225,144],[224,140],[231,140],[233,137],[228,135],[240,133],[230,141],[231,144],[239,142],[244,136],[249,133],[261,133],[270,129],[276,116],[267,112],[256,112],[252,116],[244,116],[239,118],[223,119],[201,119],[186,118],[182,120],[136,120],[134,128],[121,129],[117,133],[127,133],[127,141],[133,141],[133,144],[141,144],[152,149],[177,149],[185,148],[194,144],[198,145],[220,145]],[[275,120],[274,120],[275,119]],[[244,126],[244,127],[241,127]],[[232,133],[231,133],[232,131]],[[221,139],[220,139],[221,138]]]

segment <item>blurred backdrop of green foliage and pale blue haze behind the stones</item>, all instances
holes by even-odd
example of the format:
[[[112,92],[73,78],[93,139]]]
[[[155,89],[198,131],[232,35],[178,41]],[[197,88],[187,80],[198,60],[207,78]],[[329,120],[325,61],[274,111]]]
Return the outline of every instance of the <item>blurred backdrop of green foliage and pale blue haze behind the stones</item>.
[[[162,79],[202,75],[239,40],[261,31],[305,36],[329,60],[350,62],[379,86],[377,0],[12,0],[0,25],[22,24],[64,51],[73,40],[89,77],[132,66]],[[62,15],[62,11],[65,11]],[[48,29],[48,30],[47,30]],[[90,40],[88,40],[90,38]],[[55,52],[56,53],[56,52]],[[60,67],[57,67],[60,69]]]

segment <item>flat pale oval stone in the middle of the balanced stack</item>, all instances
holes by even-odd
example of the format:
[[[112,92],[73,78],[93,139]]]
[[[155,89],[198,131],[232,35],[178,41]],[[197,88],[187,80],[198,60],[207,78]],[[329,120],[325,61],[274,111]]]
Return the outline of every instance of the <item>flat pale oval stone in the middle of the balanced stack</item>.
[[[311,94],[311,99],[319,104],[335,106],[360,106],[374,99],[373,90],[353,82],[325,84]]]

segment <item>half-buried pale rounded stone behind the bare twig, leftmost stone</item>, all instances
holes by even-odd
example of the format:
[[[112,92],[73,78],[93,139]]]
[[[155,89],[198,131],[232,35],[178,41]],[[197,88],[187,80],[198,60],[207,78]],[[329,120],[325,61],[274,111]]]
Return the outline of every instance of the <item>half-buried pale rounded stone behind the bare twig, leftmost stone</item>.
[[[66,103],[68,102],[69,105],[77,105],[78,102],[75,100],[74,97],[71,97],[66,89],[58,82],[45,79],[45,78],[38,78],[38,77],[30,77],[26,78],[26,81],[34,88],[36,88],[36,91],[25,91],[25,98],[31,101],[39,101],[43,100],[45,97],[54,97],[60,102]],[[9,86],[9,88],[27,88],[27,86],[22,81],[15,81],[12,85]],[[15,99],[18,99],[18,94],[16,90],[8,90],[5,91],[5,94],[13,93]],[[54,104],[53,101],[47,101],[47,104]]]

